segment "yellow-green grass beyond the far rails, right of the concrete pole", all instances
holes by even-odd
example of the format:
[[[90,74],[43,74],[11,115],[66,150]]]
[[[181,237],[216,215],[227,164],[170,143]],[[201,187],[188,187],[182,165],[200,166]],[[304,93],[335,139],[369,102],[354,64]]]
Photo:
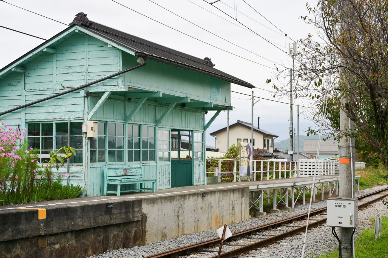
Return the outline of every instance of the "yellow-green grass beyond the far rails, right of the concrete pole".
[[[387,170],[383,165],[378,167],[367,166],[362,170],[356,170],[356,175],[361,175],[360,190],[388,184],[386,179]]]

